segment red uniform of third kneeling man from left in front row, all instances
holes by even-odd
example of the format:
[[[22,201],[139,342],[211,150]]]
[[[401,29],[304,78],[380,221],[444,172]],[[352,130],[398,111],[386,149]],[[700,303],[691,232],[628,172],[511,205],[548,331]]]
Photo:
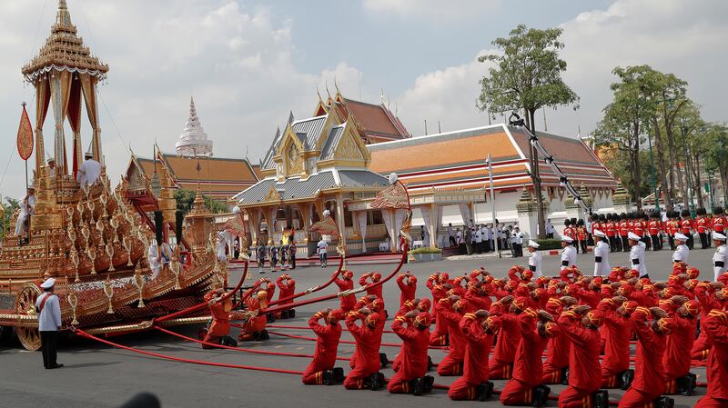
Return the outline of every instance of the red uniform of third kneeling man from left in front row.
[[[404,323],[408,323],[405,327]],[[410,381],[424,377],[428,369],[427,351],[430,347],[430,329],[418,329],[411,319],[397,316],[392,330],[402,339],[401,365],[389,380],[389,393],[411,393]]]

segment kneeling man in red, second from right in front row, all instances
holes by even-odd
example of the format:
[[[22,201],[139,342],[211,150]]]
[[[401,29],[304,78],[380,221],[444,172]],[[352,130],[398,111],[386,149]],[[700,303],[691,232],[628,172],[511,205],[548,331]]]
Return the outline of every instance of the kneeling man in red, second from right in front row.
[[[665,370],[662,354],[665,336],[674,328],[668,314],[659,307],[638,307],[632,313],[632,328],[637,334],[637,352],[632,386],[622,395],[618,408],[642,408],[654,403],[655,408],[671,408],[674,400],[664,393]],[[654,317],[652,321],[648,320]]]

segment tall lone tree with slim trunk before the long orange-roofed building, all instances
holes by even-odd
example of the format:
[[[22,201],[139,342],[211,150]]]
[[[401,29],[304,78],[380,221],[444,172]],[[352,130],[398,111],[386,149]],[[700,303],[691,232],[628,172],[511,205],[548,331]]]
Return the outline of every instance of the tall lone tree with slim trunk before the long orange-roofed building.
[[[489,114],[522,111],[526,125],[536,134],[535,114],[541,107],[573,104],[578,108],[579,96],[564,84],[561,73],[566,61],[559,57],[564,47],[559,41],[561,28],[539,30],[518,25],[507,38],[492,42],[499,54],[482,55],[480,62],[489,62],[488,75],[480,80],[478,107]],[[539,235],[545,237],[545,224],[539,177],[539,160],[531,146],[531,178],[539,207]]]

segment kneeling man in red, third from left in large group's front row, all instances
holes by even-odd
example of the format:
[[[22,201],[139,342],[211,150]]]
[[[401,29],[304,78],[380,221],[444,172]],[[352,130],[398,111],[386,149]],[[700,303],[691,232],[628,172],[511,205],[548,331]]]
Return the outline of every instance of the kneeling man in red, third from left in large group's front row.
[[[392,331],[402,339],[401,366],[389,380],[389,393],[430,393],[435,379],[425,375],[428,369],[427,351],[430,346],[430,313],[410,311],[399,315]],[[407,326],[405,326],[407,324]]]

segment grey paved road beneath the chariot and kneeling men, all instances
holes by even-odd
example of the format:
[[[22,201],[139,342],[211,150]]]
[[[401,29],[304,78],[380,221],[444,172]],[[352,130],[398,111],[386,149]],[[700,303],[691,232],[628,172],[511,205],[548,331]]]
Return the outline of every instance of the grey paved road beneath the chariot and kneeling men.
[[[666,279],[671,270],[669,251],[647,254],[646,262],[650,274],[655,279]],[[713,251],[695,250],[691,254],[692,264],[703,271],[703,278],[712,278],[711,256]],[[591,255],[580,255],[583,270],[591,264]],[[626,264],[626,254],[612,254],[612,265]],[[487,258],[478,260],[441,261],[437,263],[409,264],[405,267],[420,278],[418,295],[428,295],[424,282],[432,271],[445,270],[450,274],[466,273],[480,265],[484,265],[492,274],[503,276],[512,264],[524,264],[520,260]],[[557,271],[559,258],[544,257],[544,271]],[[391,271],[393,265],[376,265],[382,273]],[[370,271],[370,266],[353,266],[356,275]],[[293,271],[291,274],[298,281],[298,288],[304,289],[324,282],[334,268],[310,267]],[[239,272],[233,272],[233,275]],[[266,274],[275,277],[278,274]],[[258,277],[257,269],[253,276]],[[232,279],[235,277],[233,276]],[[231,279],[231,280],[232,280]],[[321,291],[334,293],[334,288]],[[399,290],[393,282],[384,290],[389,312],[393,312],[399,304]],[[278,321],[277,323],[306,325],[308,317],[319,308],[335,306],[337,302],[313,304],[298,309],[296,319]],[[181,333],[194,336],[196,327],[176,328]],[[273,330],[271,332],[311,335],[305,331]],[[345,333],[342,339],[350,340]],[[248,364],[266,367],[303,370],[308,359],[280,356],[265,356],[231,351],[201,350],[197,344],[179,341],[164,333],[137,333],[116,337],[113,340],[143,350],[165,353],[177,357],[185,357],[213,362]],[[385,334],[384,340],[398,342],[393,334]],[[289,353],[313,353],[314,343],[305,340],[289,339],[272,335],[267,343],[244,344],[245,347],[268,351],[284,351]],[[390,359],[397,353],[397,348],[384,347],[382,351],[389,354]],[[341,344],[339,355],[349,356],[352,346]],[[430,351],[435,362],[440,361],[443,352]],[[132,352],[118,350],[103,344],[92,343],[83,339],[67,339],[62,344],[59,362],[66,363],[60,370],[46,371],[42,367],[40,353],[26,353],[12,344],[0,344],[0,404],[13,407],[113,407],[123,403],[130,395],[140,391],[157,393],[166,407],[242,407],[242,406],[286,406],[295,403],[299,406],[433,406],[443,403],[457,406],[501,406],[500,403],[452,403],[443,391],[436,391],[427,396],[391,395],[386,391],[346,391],[341,386],[304,386],[296,375],[283,373],[263,373],[248,370],[217,368],[188,363],[176,363],[147,357]],[[348,371],[346,369],[345,371]],[[390,369],[383,372],[390,376]],[[704,370],[694,369],[704,381]],[[449,384],[453,378],[436,376],[436,383]],[[496,388],[502,388],[503,382],[496,381]],[[561,386],[553,386],[552,393],[559,393]],[[703,395],[704,389],[698,390],[698,396],[676,398],[676,406],[689,407]],[[612,401],[616,401],[622,391],[610,390]],[[555,406],[555,402],[550,403]]]

